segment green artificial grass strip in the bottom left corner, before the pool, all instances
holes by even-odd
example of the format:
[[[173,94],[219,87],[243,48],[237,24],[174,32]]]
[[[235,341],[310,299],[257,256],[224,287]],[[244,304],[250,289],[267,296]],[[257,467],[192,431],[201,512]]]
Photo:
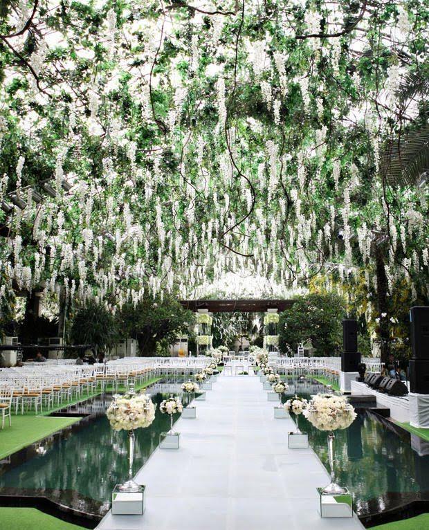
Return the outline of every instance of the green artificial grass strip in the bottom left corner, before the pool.
[[[9,530],[83,530],[35,508],[0,508],[0,528]]]

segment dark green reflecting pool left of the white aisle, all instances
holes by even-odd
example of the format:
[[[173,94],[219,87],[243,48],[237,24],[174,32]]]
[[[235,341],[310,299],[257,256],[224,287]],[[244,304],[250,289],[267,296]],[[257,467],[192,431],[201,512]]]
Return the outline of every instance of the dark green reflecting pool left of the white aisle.
[[[168,395],[157,390],[179,393],[179,389],[179,384],[156,385],[152,401],[159,405]],[[73,414],[91,416],[0,464],[0,495],[46,496],[78,511],[105,513],[113,486],[124,482],[128,469],[127,433],[113,431],[104,414],[110,401],[102,396],[71,408]],[[161,432],[169,428],[170,417],[157,407],[152,426],[136,430],[135,472],[158,446]]]

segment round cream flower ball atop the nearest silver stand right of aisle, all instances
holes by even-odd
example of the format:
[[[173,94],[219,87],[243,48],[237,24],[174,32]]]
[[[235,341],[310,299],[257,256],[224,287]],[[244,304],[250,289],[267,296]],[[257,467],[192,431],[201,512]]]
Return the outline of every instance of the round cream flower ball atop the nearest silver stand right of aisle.
[[[303,414],[317,429],[329,431],[347,429],[357,415],[344,396],[334,394],[314,396]]]

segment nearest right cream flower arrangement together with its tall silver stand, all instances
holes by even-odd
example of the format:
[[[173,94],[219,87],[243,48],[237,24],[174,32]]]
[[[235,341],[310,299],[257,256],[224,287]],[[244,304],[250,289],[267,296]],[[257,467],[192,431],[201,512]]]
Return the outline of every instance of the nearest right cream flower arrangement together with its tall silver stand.
[[[331,483],[323,488],[323,493],[329,495],[342,495],[347,493],[335,481],[334,471],[334,430],[347,429],[356,418],[353,406],[344,396],[334,394],[318,394],[309,402],[303,412],[304,416],[319,430],[327,430],[329,466],[331,468]]]

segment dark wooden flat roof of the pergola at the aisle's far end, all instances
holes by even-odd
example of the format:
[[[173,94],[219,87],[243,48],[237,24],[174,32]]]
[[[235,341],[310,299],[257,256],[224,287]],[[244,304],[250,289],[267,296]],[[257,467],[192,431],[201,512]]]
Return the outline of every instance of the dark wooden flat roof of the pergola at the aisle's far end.
[[[185,309],[208,309],[210,313],[265,313],[267,309],[281,312],[293,306],[295,300],[181,300]]]

